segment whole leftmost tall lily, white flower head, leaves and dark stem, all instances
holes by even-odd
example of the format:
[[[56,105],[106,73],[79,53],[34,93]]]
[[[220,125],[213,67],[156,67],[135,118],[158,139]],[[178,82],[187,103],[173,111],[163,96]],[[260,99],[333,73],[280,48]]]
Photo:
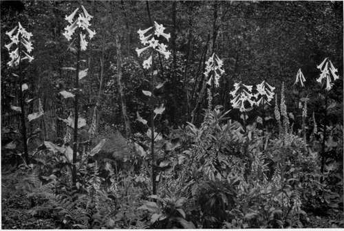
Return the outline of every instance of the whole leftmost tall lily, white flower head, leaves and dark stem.
[[[17,33],[16,33],[17,31]],[[21,113],[21,133],[23,139],[23,156],[25,158],[25,162],[28,164],[29,162],[29,154],[28,154],[28,144],[27,144],[27,134],[26,134],[26,118],[25,118],[25,98],[23,91],[28,88],[28,85],[23,83],[23,73],[22,73],[22,61],[27,60],[29,63],[34,60],[33,56],[30,56],[30,53],[33,50],[31,37],[32,33],[27,32],[25,28],[18,23],[18,25],[10,30],[10,32],[6,32],[6,34],[10,37],[11,42],[5,45],[10,55],[11,60],[7,63],[9,67],[19,67],[19,76],[17,74],[13,74],[14,76],[19,77],[19,107],[12,107],[12,109],[17,109],[16,111],[20,111]],[[10,52],[12,50],[12,52]]]

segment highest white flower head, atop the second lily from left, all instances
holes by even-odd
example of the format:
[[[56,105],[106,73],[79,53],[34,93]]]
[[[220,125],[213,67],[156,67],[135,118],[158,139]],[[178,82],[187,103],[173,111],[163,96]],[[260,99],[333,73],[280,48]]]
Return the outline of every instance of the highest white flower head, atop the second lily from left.
[[[85,30],[88,32],[89,39],[92,39],[94,34],[96,34],[95,31],[92,31],[89,29],[89,21],[93,18],[87,10],[81,5],[81,8],[83,8],[83,12],[81,12],[78,16],[78,18],[73,21],[76,12],[78,12],[79,8],[76,8],[72,14],[69,14],[69,16],[65,16],[65,20],[68,21],[69,25],[65,27],[65,32],[63,33],[63,36],[67,39],[67,41],[72,39],[72,35],[76,31],[77,28],[81,28],[82,30]],[[83,32],[80,32],[80,50],[86,50],[88,42],[86,41],[86,34],[83,34]]]

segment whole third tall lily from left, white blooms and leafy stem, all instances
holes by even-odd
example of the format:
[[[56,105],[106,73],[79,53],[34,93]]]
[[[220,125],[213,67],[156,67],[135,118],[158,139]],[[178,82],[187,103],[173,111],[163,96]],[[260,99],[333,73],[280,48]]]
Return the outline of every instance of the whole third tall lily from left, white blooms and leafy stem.
[[[147,135],[149,135],[151,139],[151,181],[152,181],[152,192],[153,195],[156,194],[156,177],[155,177],[155,154],[154,154],[154,142],[158,138],[158,133],[156,133],[155,127],[154,127],[154,120],[156,115],[162,114],[164,112],[164,104],[162,104],[160,107],[155,108],[154,104],[154,89],[158,88],[155,87],[155,76],[158,74],[158,70],[155,69],[155,57],[158,56],[158,54],[162,54],[164,58],[168,59],[171,55],[171,52],[166,50],[167,45],[164,43],[161,43],[163,37],[167,41],[169,41],[169,38],[171,37],[170,34],[166,34],[164,32],[165,28],[162,24],[159,24],[157,22],[154,22],[154,25],[151,27],[145,29],[145,30],[138,30],[138,34],[140,37],[140,42],[142,45],[145,45],[143,48],[136,48],[136,52],[138,53],[138,56],[140,57],[144,53],[148,54],[148,58],[145,59],[142,63],[142,66],[144,69],[150,70],[151,72],[151,86],[150,91],[142,91],[142,93],[145,96],[148,96],[150,98],[150,120],[151,120],[151,127],[147,131]],[[151,31],[151,34],[148,34],[149,31]],[[147,120],[143,120],[140,115],[138,114],[138,121],[142,122],[144,125],[147,125]]]

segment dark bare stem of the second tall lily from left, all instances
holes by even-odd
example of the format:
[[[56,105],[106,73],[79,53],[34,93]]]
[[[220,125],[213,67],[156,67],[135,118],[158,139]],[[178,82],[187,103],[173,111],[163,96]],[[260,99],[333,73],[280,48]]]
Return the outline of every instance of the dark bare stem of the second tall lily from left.
[[[78,54],[76,58],[76,74],[75,84],[76,89],[75,100],[74,100],[74,143],[73,143],[73,168],[72,168],[72,186],[76,186],[76,152],[78,151],[78,87],[79,87],[79,69],[80,69],[80,35],[78,34]]]

